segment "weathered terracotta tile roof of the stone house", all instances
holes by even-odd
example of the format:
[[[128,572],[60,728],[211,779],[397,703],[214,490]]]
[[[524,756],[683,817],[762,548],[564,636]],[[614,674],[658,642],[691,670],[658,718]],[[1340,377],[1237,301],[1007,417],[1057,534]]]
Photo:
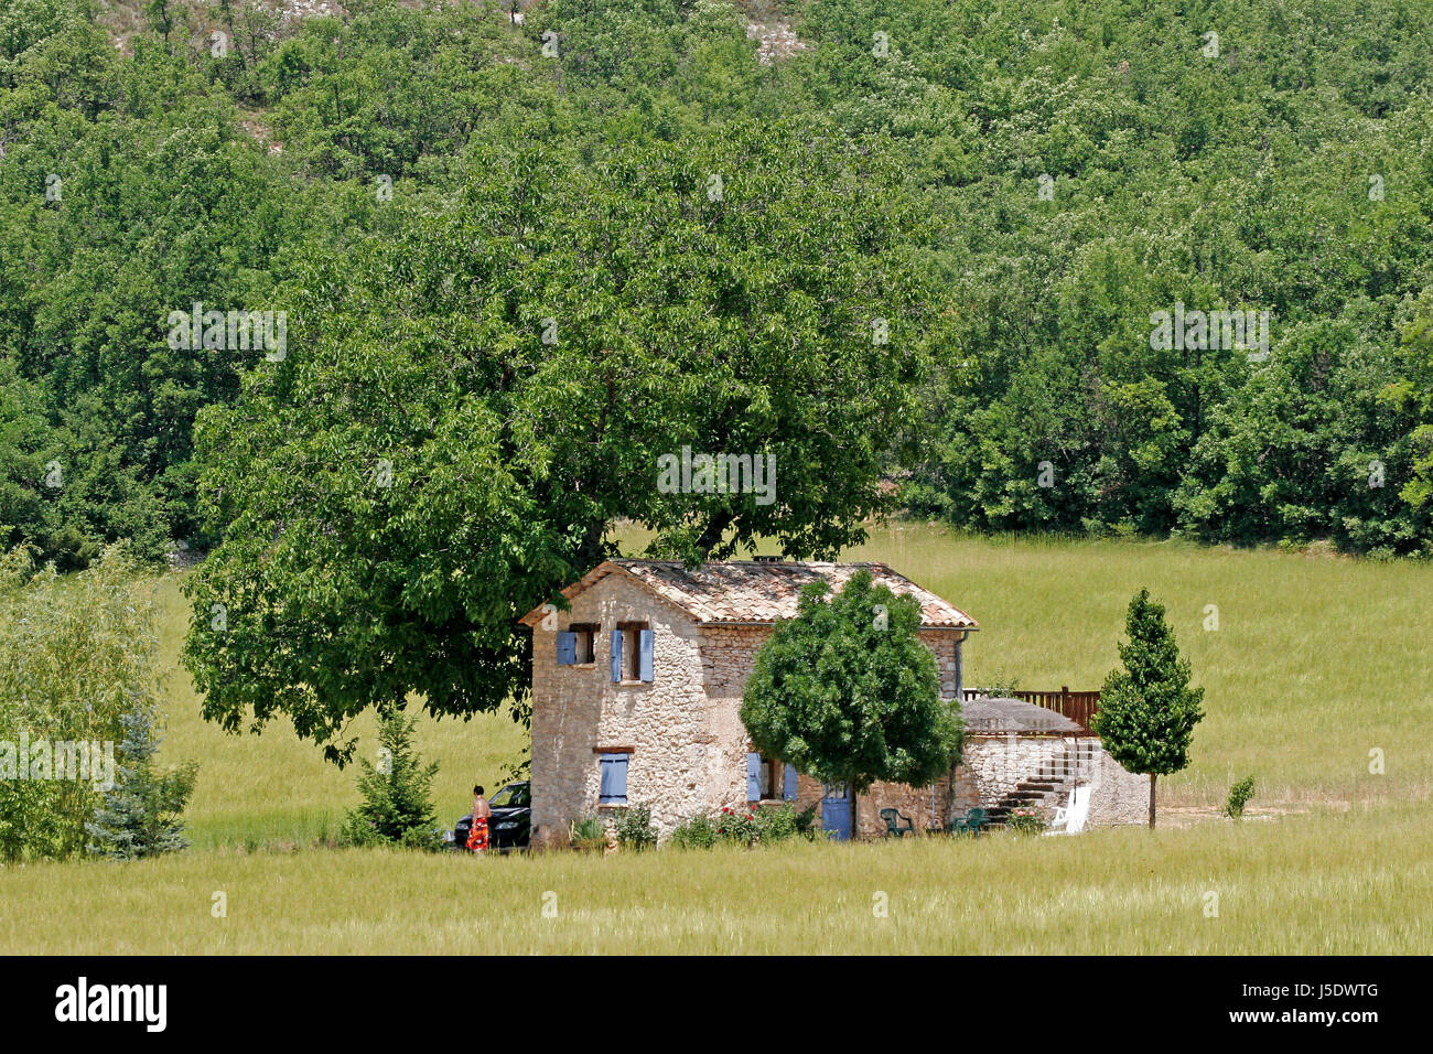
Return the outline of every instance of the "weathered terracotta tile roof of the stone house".
[[[727,561],[686,568],[678,561],[612,559],[563,589],[569,599],[610,574],[636,579],[662,599],[704,624],[770,625],[797,612],[801,588],[825,579],[840,589],[860,568],[871,572],[877,585],[891,592],[914,597],[921,609],[921,625],[929,630],[979,630],[966,612],[936,594],[921,589],[884,564],[821,564],[794,561]],[[522,618],[532,625],[542,618],[536,608]]]

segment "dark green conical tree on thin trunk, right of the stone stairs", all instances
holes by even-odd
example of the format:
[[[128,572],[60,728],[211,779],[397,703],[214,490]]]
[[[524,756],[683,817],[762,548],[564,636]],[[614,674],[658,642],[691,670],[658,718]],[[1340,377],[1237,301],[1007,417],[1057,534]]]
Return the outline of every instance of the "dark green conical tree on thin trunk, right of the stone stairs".
[[[1141,589],[1125,617],[1122,670],[1105,678],[1093,731],[1128,771],[1149,776],[1149,826],[1155,826],[1155,782],[1189,764],[1194,726],[1204,717],[1204,688],[1189,687],[1189,663],[1179,658],[1164,605]]]

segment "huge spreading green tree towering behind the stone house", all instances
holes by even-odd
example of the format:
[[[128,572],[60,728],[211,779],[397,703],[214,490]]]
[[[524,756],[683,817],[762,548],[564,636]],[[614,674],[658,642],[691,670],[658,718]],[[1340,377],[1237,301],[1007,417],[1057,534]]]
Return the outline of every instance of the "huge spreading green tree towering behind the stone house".
[[[878,141],[820,122],[615,148],[474,145],[451,198],[312,254],[288,354],[201,414],[222,542],[188,581],[205,714],[275,714],[344,760],[344,724],[420,694],[513,700],[516,619],[612,552],[755,538],[834,555],[888,502],[939,303]],[[775,493],[658,486],[663,455],[775,460]]]

